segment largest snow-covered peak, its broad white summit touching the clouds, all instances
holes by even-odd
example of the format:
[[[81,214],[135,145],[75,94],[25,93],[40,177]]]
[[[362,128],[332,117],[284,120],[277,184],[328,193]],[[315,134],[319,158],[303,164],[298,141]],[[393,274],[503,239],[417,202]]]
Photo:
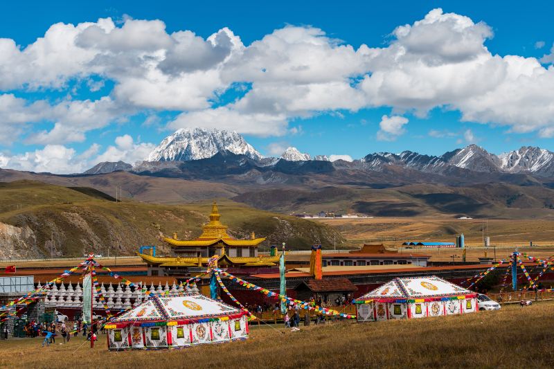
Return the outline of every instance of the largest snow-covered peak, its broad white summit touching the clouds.
[[[161,141],[148,161],[189,161],[210,158],[227,150],[233,154],[243,154],[251,159],[262,159],[257,152],[237,132],[220,129],[179,129]]]

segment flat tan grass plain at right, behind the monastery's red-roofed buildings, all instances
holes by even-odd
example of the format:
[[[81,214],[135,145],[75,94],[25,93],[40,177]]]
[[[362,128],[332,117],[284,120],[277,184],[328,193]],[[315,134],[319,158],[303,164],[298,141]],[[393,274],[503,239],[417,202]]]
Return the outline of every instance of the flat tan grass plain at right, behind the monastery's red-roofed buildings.
[[[450,217],[375,217],[361,219],[317,219],[340,231],[346,242],[341,247],[352,248],[368,242],[382,242],[402,253],[425,253],[432,261],[461,261],[460,249],[402,247],[405,241],[454,242],[463,233],[467,247],[466,260],[479,261],[485,256],[483,220],[452,219]],[[501,260],[517,247],[536,258],[554,255],[554,221],[546,219],[488,219],[485,235],[490,236],[488,257]],[[530,242],[533,241],[533,247]],[[452,258],[454,255],[454,259]]]

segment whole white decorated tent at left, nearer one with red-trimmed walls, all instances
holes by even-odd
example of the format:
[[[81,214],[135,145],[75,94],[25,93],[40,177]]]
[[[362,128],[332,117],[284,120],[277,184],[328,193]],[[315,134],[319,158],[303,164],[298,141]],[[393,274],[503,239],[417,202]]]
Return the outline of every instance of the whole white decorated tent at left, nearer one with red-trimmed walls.
[[[246,339],[247,313],[204,295],[154,296],[106,325],[109,350]]]

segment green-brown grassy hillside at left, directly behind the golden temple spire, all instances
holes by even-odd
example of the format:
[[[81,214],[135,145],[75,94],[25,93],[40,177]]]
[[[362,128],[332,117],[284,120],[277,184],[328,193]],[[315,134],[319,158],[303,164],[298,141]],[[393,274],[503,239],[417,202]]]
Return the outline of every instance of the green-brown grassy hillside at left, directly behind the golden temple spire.
[[[1,257],[78,256],[89,251],[132,254],[138,246],[155,244],[159,253],[169,249],[162,235],[177,232],[187,239],[199,235],[208,221],[211,201],[184,206],[112,201],[97,190],[78,190],[35,181],[15,181],[0,186]],[[262,247],[287,242],[293,249],[307,249],[314,242],[329,246],[341,241],[332,228],[296,217],[220,201],[222,221],[230,233],[267,237]],[[6,226],[8,225],[8,226]],[[14,226],[15,228],[10,228]],[[1,232],[0,232],[1,233]],[[11,249],[10,249],[11,248]]]

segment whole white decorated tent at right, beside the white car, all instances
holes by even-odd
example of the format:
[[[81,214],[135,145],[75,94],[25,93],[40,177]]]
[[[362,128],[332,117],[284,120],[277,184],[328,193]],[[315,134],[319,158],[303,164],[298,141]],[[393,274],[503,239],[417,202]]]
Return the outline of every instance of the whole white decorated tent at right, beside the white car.
[[[479,310],[477,294],[436,276],[395,278],[356,300],[358,321],[423,318]]]

